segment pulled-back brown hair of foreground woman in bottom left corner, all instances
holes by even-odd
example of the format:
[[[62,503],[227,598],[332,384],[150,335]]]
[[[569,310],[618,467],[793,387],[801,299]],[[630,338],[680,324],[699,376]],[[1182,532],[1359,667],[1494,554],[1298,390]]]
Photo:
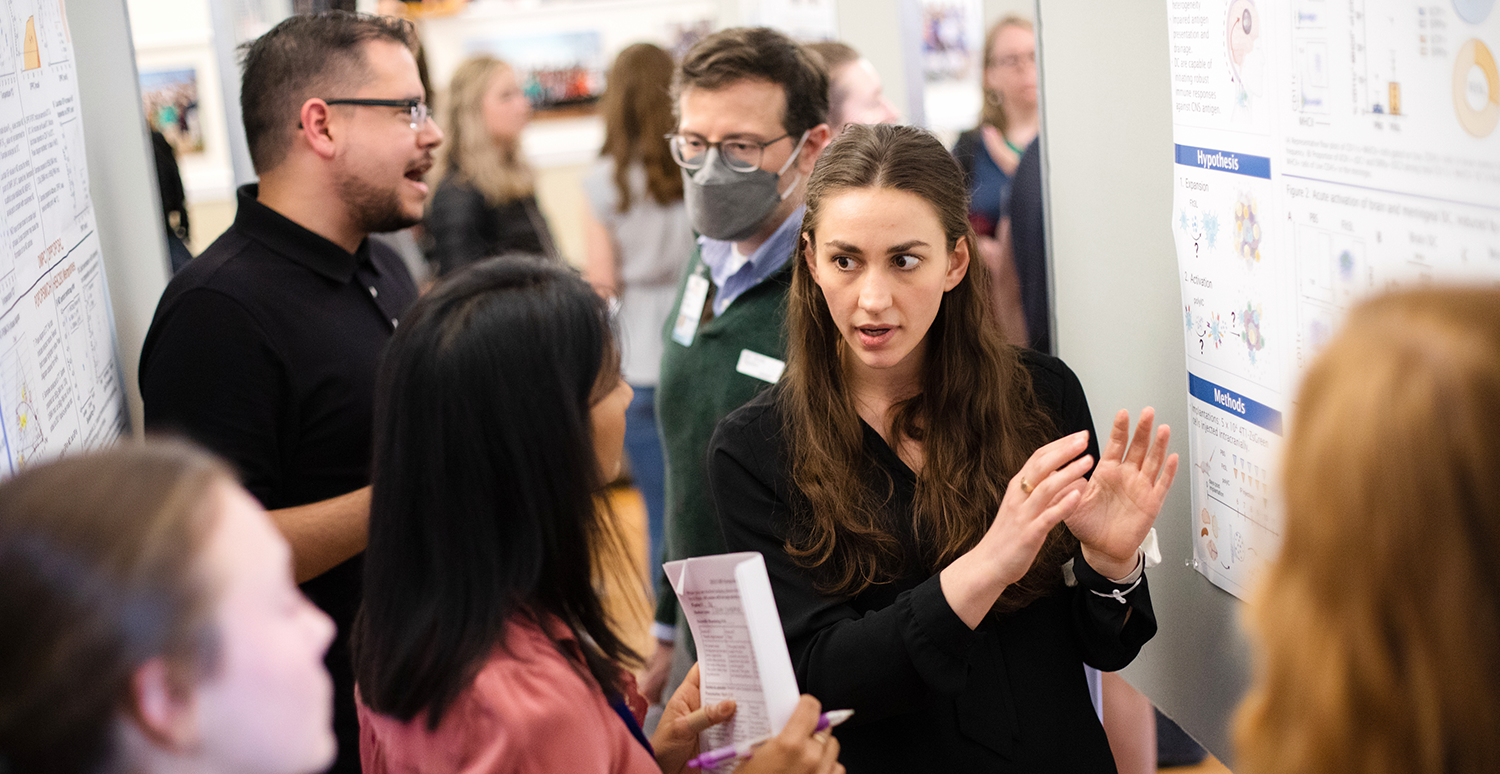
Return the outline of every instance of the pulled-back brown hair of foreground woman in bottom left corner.
[[[201,555],[228,470],[183,444],[66,458],[0,486],[0,752],[18,772],[116,768],[130,680],[218,660]]]

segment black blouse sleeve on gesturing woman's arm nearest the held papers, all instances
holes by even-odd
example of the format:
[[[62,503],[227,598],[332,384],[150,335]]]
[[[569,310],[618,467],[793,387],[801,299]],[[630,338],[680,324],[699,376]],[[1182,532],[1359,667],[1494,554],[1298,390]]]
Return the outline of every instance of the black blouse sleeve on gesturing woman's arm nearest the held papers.
[[[933,693],[957,696],[975,633],[948,606],[939,576],[864,614],[848,597],[819,592],[784,549],[778,525],[789,524],[790,510],[772,460],[774,430],[765,417],[742,422],[747,408],[714,434],[708,484],[726,548],[765,556],[801,688],[825,706],[856,710],[856,724],[909,712]]]

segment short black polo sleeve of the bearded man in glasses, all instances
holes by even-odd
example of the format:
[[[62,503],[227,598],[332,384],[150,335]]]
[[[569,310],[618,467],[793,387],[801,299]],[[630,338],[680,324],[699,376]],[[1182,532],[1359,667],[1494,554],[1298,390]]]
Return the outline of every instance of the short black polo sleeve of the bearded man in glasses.
[[[285,360],[232,298],[189,290],[152,326],[141,360],[148,432],[180,434],[225,458],[262,504],[282,486]]]

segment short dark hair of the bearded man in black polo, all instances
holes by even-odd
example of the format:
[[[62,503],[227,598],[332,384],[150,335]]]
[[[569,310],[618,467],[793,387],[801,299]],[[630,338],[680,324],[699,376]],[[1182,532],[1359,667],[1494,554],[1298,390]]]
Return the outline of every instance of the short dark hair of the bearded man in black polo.
[[[326,10],[291,16],[240,46],[240,112],[250,164],[274,170],[291,148],[303,102],[346,98],[369,75],[364,44],[388,40],[417,52],[417,32],[406,20]]]

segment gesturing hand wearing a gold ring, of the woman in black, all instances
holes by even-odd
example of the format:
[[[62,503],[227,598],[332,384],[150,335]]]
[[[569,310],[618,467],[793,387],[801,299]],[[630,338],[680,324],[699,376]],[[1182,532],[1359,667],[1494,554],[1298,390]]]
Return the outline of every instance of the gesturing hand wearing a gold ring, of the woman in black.
[[[1078,458],[1088,447],[1089,434],[1080,430],[1034,452],[1011,478],[980,544],[940,573],[944,598],[969,628],[980,626],[1005,586],[1026,574],[1047,532],[1078,506],[1083,474],[1094,465],[1094,458]]]

